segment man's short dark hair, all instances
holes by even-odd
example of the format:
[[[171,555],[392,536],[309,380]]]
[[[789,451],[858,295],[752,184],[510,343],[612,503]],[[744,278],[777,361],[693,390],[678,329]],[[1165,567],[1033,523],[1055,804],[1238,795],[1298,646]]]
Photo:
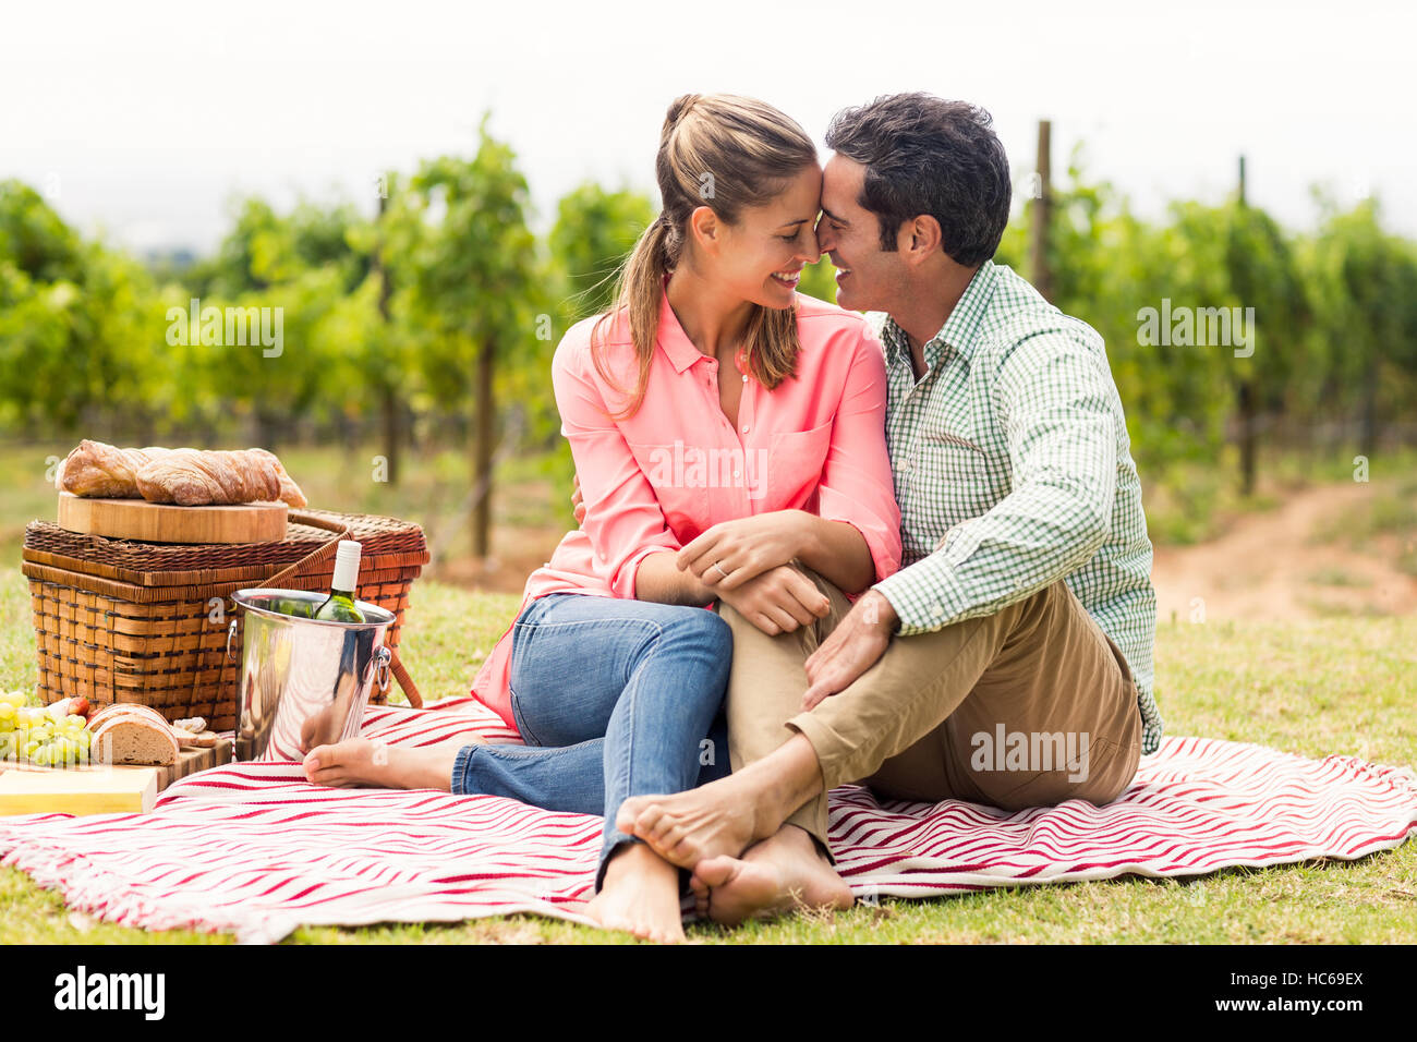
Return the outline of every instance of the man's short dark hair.
[[[993,257],[1012,184],[992,123],[978,105],[931,94],[893,94],[832,118],[826,146],[866,167],[857,201],[880,221],[881,250],[896,250],[904,221],[930,214],[956,264]]]

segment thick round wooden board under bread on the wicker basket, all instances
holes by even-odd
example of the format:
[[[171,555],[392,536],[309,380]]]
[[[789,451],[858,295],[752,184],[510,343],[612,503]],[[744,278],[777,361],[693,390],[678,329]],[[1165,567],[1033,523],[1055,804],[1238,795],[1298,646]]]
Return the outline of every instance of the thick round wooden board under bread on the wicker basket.
[[[266,543],[285,539],[285,503],[177,506],[60,493],[60,527],[146,543]]]

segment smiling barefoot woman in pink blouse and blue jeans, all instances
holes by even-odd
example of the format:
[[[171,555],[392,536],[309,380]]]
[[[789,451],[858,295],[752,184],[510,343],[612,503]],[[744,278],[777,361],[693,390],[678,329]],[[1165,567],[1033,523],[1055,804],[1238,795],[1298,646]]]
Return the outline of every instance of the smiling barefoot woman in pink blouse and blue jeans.
[[[762,102],[687,95],[656,174],[663,213],[619,305],[574,326],[551,364],[582,526],[527,580],[473,685],[527,744],[356,739],[312,750],[306,775],[604,814],[588,914],[680,940],[677,869],[614,822],[631,795],[727,771],[710,729],[731,637],[704,608],[728,603],[769,634],[808,625],[828,601],[791,564],[862,591],[898,567],[900,515],[880,344],[795,292],[820,257],[811,139]]]

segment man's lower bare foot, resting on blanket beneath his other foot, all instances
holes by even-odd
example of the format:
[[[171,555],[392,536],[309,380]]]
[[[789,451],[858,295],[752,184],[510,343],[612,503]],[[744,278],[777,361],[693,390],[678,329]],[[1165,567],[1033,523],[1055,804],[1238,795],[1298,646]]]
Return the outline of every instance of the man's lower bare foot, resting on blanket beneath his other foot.
[[[708,858],[689,880],[700,914],[737,926],[795,909],[849,909],[853,897],[816,844],[796,825],[784,825],[743,858]]]

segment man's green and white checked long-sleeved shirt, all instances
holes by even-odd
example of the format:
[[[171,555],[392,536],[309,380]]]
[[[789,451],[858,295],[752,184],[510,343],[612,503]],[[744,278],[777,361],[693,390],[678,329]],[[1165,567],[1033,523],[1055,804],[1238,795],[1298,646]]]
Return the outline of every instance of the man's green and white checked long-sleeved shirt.
[[[925,344],[918,383],[905,333],[870,320],[904,550],[876,590],[900,632],[990,615],[1066,578],[1127,656],[1142,753],[1155,753],[1152,544],[1102,337],[992,261]]]

